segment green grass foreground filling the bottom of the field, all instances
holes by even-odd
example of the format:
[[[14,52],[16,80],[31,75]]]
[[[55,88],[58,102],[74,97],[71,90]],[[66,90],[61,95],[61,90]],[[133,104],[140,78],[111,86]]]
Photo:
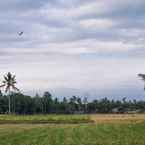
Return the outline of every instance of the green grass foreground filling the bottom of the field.
[[[145,145],[145,124],[1,125],[1,145]]]

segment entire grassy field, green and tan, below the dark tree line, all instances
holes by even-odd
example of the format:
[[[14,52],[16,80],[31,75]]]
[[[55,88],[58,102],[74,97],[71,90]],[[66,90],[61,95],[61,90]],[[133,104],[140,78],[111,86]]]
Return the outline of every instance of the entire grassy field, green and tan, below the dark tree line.
[[[65,118],[65,123],[0,124],[0,145],[145,145],[145,115],[0,116],[0,120],[39,117]],[[72,124],[70,118],[93,121]]]

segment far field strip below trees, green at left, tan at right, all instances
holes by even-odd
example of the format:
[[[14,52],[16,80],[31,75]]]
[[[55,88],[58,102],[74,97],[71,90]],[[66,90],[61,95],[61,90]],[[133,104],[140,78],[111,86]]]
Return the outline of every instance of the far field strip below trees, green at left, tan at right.
[[[0,115],[0,124],[139,123],[144,114]]]

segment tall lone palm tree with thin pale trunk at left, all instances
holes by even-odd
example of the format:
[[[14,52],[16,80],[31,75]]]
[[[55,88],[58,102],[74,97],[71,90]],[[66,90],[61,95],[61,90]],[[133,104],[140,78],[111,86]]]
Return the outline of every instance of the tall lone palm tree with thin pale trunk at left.
[[[10,72],[8,72],[4,76],[3,84],[0,86],[0,88],[5,87],[5,93],[8,93],[9,95],[9,114],[11,114],[11,98],[10,98],[10,91],[16,90],[19,91],[18,88],[15,87],[16,82],[16,76],[12,75]]]

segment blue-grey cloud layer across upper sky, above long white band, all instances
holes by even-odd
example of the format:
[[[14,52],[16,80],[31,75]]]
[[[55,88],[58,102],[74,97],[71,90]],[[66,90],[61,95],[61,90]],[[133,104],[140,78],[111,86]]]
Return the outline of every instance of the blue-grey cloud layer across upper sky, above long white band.
[[[98,2],[103,2],[107,9],[102,9],[100,13],[96,13],[97,9],[92,9],[88,13],[83,13],[79,9],[83,5]],[[47,48],[51,42],[61,45],[66,42],[87,39],[96,39],[104,43],[112,40],[133,43],[134,40],[144,38],[144,32],[134,33],[134,29],[144,29],[144,3],[143,0],[134,3],[130,0],[123,2],[115,0],[109,2],[106,0],[71,0],[67,2],[65,0],[36,0],[35,2],[14,0],[12,2],[7,0],[1,2],[4,9],[1,9],[3,13],[0,14],[0,48],[9,48],[9,45],[12,48]],[[45,7],[47,5],[48,7]],[[75,5],[77,7],[73,7]],[[7,8],[14,9],[18,13],[6,13]],[[51,13],[53,8],[56,8],[55,16]],[[44,13],[41,10],[48,12]],[[59,15],[59,10],[64,10],[62,15]],[[69,13],[69,10],[71,12],[77,10],[78,13],[75,15],[75,13]],[[91,18],[96,20],[107,18],[113,22],[113,26],[104,29],[80,26],[80,20]],[[125,31],[123,31],[124,29]],[[18,37],[19,31],[24,31],[23,37]],[[140,43],[142,42],[140,41]]]

